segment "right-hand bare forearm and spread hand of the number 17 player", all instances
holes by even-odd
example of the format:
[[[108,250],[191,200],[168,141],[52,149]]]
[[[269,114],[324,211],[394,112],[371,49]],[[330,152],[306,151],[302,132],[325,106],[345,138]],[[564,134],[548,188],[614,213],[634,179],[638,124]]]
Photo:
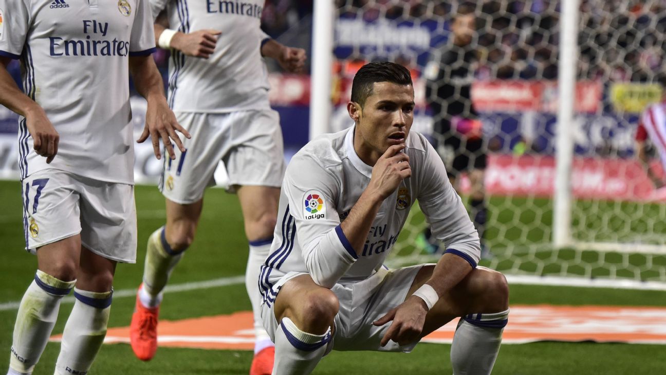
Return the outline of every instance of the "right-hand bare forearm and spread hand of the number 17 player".
[[[176,135],[176,130],[188,138],[190,133],[178,124],[176,117],[166,104],[162,76],[157,70],[153,57],[151,55],[129,57],[129,71],[132,74],[135,88],[148,101],[146,125],[137,142],[145,141],[150,135],[153,139],[155,156],[157,159],[161,159],[159,139],[162,138],[166,151],[171,159],[174,159],[176,155],[173,152],[171,141],[176,143],[180,151],[185,151],[180,137]]]

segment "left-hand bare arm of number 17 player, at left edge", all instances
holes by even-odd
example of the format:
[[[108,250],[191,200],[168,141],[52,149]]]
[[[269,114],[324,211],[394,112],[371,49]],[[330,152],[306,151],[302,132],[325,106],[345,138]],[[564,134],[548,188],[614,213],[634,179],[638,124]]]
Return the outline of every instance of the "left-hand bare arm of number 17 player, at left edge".
[[[0,104],[25,117],[25,125],[33,137],[33,148],[38,155],[47,158],[47,163],[51,163],[58,153],[60,136],[44,109],[16,85],[7,71],[9,61],[9,57],[0,57]]]

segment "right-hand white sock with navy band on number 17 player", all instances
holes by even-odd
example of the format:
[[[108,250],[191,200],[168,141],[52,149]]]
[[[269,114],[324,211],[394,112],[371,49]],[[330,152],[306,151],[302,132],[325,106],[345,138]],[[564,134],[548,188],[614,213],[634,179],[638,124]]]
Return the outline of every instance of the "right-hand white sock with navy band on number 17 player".
[[[63,332],[55,375],[85,374],[107,335],[113,290],[95,293],[74,288],[77,298]]]

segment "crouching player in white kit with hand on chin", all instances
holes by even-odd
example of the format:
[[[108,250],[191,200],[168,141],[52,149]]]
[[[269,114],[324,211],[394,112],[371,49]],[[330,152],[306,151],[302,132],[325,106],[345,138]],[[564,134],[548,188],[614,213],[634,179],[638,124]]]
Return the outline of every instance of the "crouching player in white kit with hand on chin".
[[[454,374],[490,374],[508,287],[477,266],[479,237],[442,159],[410,133],[409,71],[364,65],[351,99],[354,127],[310,141],[286,169],[259,280],[272,374],[310,374],[332,349],[409,352],[457,316]],[[388,270],[383,262],[416,200],[448,250],[436,265]]]

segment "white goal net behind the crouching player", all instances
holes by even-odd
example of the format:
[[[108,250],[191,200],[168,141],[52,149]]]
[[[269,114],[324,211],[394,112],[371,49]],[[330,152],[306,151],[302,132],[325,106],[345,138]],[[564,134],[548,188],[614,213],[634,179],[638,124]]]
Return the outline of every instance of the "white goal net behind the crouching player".
[[[430,137],[482,226],[489,250],[482,265],[529,282],[666,288],[666,194],[635,156],[641,112],[662,99],[666,6],[572,3],[575,82],[561,92],[560,1],[335,1],[327,130],[352,125],[345,105],[360,66],[401,63],[414,77],[412,129]],[[328,26],[315,18],[314,27]],[[571,97],[571,120],[559,124],[559,103]],[[558,143],[562,133],[570,151]],[[558,169],[567,160],[558,147],[570,167]],[[664,179],[654,153],[651,168]],[[553,216],[558,207],[563,214]],[[415,205],[392,266],[439,257],[427,228]]]

